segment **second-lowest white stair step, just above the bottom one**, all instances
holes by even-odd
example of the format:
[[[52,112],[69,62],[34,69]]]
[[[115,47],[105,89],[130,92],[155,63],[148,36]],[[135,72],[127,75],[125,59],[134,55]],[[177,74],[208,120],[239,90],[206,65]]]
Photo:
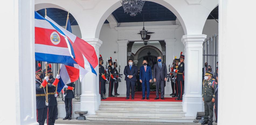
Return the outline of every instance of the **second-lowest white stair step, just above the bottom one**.
[[[154,111],[109,111],[109,110],[98,110],[95,111],[98,116],[167,116],[167,117],[182,117],[185,116],[184,112],[171,112],[171,111],[162,111],[162,112],[154,112]]]

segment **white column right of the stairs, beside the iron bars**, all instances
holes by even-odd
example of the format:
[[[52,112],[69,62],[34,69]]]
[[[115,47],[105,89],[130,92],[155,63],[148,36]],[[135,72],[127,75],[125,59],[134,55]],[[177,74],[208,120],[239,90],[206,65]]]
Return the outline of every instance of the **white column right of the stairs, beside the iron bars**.
[[[202,61],[203,41],[206,35],[184,35],[181,38],[185,46],[185,93],[183,111],[185,116],[196,116],[203,111],[202,100]]]

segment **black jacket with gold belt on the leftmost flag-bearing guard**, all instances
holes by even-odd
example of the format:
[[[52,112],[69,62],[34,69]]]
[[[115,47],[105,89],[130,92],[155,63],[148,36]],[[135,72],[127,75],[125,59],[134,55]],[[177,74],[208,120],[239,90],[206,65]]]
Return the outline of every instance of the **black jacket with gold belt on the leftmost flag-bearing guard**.
[[[46,91],[41,86],[42,81],[36,79],[36,109],[45,108]]]

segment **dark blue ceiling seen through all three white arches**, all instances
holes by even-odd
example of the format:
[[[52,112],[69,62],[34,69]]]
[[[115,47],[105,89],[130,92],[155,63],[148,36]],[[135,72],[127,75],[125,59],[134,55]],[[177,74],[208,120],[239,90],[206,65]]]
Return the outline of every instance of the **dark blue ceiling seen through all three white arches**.
[[[218,9],[219,7],[217,6],[210,13],[215,19],[218,19],[218,16],[219,16]],[[44,9],[38,10],[37,12],[40,15],[44,16]],[[54,20],[60,26],[66,25],[67,14],[68,12],[62,9],[47,8],[47,16],[49,16],[52,20]],[[145,2],[141,13],[137,13],[136,16],[130,16],[130,13],[128,14],[124,13],[122,6],[120,6],[114,12],[112,12],[112,15],[115,17],[118,23],[143,22],[143,14],[144,14],[145,22],[176,20],[176,16],[169,9],[165,8],[164,6],[158,3],[150,2],[150,1]],[[213,19],[212,16],[209,15],[207,19]],[[78,25],[77,21],[75,20],[75,18],[72,16],[71,13],[69,14],[69,20],[71,25]],[[109,23],[109,22],[105,20],[104,23]]]

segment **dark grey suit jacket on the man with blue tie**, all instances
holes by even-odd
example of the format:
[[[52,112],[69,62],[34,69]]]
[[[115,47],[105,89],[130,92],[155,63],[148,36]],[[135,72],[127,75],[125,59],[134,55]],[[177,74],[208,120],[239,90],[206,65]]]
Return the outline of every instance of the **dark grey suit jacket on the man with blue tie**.
[[[156,80],[160,80],[160,78],[161,80],[164,80],[164,78],[167,78],[167,68],[165,63],[161,63],[161,69],[158,63],[154,65],[153,77]]]

